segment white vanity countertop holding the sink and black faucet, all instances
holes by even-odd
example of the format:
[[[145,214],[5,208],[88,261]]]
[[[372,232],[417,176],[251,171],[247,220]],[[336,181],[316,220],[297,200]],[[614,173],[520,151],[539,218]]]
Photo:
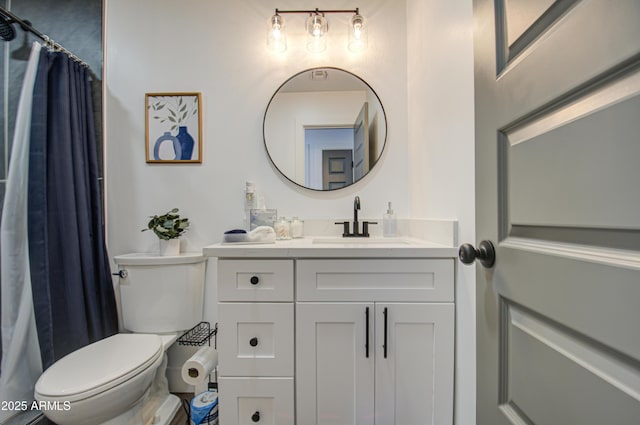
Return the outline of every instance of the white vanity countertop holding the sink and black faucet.
[[[455,258],[457,248],[410,237],[305,237],[270,244],[219,243],[203,254],[220,258]]]

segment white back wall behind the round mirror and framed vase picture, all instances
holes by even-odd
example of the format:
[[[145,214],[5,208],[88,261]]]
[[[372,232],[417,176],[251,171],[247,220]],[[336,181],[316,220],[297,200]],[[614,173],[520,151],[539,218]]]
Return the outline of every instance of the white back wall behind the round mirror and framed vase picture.
[[[356,1],[323,1],[354,8]],[[300,218],[349,217],[353,197],[363,218],[381,218],[388,200],[408,216],[406,7],[373,0],[362,8],[369,49],[347,50],[350,15],[329,15],[328,48],[304,47],[305,15],[287,16],[289,48],[266,48],[266,23],[276,7],[314,9],[310,0],[106,0],[105,125],[108,243],[112,255],[155,248],[140,233],[148,215],[178,207],[192,221],[183,249],[198,250],[242,226],[243,189],[256,183],[269,208]],[[361,76],[378,93],[389,120],[387,149],[370,176],[337,192],[308,191],[274,169],[264,149],[262,119],[273,92],[302,69],[332,65]],[[201,165],[145,163],[144,95],[202,93]]]

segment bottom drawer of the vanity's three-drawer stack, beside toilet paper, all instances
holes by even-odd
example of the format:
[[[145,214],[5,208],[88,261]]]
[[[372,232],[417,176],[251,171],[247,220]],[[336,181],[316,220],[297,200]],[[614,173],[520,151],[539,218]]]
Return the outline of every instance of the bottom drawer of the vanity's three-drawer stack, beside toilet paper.
[[[293,425],[293,378],[219,378],[220,423]]]

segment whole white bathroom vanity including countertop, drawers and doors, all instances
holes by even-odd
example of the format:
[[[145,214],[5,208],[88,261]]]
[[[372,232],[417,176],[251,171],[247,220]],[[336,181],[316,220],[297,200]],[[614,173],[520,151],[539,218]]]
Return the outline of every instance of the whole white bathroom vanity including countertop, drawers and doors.
[[[305,238],[204,254],[218,257],[221,423],[453,423],[455,248]]]

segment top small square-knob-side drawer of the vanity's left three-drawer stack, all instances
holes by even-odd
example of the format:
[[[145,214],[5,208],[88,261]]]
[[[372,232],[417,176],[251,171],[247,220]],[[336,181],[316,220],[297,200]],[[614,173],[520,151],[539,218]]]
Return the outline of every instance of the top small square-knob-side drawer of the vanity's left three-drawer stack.
[[[293,260],[219,260],[219,301],[293,301]]]

